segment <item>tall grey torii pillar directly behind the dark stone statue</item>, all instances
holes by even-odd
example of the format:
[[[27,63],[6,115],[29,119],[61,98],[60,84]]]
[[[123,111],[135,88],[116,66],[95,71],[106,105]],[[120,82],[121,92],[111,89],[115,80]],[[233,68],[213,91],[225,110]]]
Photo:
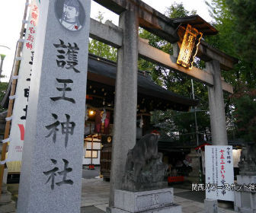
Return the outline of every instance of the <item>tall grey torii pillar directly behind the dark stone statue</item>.
[[[136,144],[138,13],[137,8],[120,14],[123,45],[118,49],[114,102],[114,140],[110,173],[110,207],[114,189],[120,189],[128,150]]]

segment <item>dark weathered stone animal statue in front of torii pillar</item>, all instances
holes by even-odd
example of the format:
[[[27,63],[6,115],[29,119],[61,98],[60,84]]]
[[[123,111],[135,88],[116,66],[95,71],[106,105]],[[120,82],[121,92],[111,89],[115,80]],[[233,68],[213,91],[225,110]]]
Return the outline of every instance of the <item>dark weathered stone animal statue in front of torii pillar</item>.
[[[158,134],[144,135],[128,151],[122,188],[137,191],[158,187],[167,168],[162,163],[162,154],[158,153]]]

